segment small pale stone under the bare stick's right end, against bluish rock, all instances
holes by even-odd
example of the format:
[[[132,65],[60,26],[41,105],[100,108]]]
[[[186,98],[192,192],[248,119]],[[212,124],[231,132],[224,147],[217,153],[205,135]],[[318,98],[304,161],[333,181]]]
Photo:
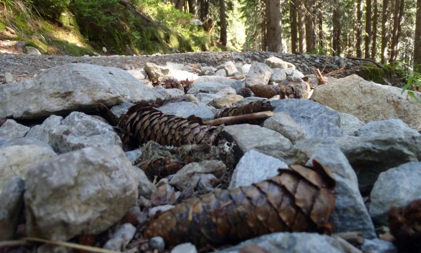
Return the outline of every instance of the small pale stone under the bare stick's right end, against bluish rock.
[[[285,112],[275,113],[274,116],[266,119],[263,127],[280,133],[292,143],[306,136],[306,131]]]

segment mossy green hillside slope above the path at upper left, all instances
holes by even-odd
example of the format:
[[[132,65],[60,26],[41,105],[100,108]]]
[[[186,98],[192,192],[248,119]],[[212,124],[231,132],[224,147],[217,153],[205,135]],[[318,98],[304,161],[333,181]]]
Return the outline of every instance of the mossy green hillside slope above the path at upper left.
[[[0,0],[0,39],[26,40],[51,55],[104,54],[103,47],[106,55],[219,50],[191,20],[159,0]]]

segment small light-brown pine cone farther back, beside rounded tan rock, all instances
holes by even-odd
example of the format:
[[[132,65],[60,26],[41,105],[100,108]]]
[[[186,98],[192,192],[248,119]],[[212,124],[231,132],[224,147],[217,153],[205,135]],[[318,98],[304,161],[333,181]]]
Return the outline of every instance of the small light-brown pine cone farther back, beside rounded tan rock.
[[[280,95],[284,98],[301,98],[301,91],[291,85],[273,86],[273,85],[254,85],[250,87],[253,93],[258,97],[271,98]]]

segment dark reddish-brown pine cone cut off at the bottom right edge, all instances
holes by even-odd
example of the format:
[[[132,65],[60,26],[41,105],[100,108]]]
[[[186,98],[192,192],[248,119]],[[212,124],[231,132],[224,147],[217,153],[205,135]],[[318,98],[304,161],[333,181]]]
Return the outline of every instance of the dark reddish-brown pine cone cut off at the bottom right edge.
[[[400,251],[421,252],[421,199],[412,201],[405,208],[391,207],[389,228]]]

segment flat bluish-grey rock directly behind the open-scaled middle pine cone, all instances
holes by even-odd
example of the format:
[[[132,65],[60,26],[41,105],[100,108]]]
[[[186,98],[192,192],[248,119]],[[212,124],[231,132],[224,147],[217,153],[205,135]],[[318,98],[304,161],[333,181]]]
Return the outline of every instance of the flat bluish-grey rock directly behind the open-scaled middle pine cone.
[[[215,114],[209,107],[197,106],[192,102],[169,103],[158,108],[158,110],[181,118],[188,118],[190,115],[195,115],[203,120],[210,120],[215,117]]]

